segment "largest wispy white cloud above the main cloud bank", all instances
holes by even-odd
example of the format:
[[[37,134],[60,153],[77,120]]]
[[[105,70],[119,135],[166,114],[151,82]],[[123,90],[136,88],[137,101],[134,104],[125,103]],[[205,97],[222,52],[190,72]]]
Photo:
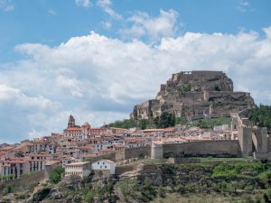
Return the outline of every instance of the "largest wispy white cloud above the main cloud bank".
[[[151,17],[149,14],[137,12],[127,21],[132,23],[129,28],[121,29],[124,36],[139,38],[147,36],[151,41],[159,41],[163,37],[173,37],[178,32],[178,14],[174,10],[160,10],[158,17]]]

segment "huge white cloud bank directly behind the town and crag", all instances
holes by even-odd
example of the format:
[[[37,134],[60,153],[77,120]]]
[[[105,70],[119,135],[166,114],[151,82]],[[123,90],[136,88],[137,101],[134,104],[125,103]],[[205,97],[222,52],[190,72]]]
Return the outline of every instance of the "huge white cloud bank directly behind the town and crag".
[[[154,98],[161,83],[184,70],[223,70],[235,90],[270,105],[271,27],[264,32],[171,37],[173,32],[161,31],[155,45],[90,32],[55,47],[18,45],[24,60],[1,65],[1,138],[61,131],[70,114],[91,125],[128,117],[135,104]]]

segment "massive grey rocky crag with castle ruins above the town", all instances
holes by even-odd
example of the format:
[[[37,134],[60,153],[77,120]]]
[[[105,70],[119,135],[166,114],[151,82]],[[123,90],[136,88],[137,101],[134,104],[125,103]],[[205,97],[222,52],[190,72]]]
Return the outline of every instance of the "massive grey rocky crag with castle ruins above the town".
[[[155,99],[134,107],[131,118],[149,119],[168,112],[191,121],[227,116],[253,106],[250,94],[233,92],[232,80],[222,71],[190,71],[173,74]]]

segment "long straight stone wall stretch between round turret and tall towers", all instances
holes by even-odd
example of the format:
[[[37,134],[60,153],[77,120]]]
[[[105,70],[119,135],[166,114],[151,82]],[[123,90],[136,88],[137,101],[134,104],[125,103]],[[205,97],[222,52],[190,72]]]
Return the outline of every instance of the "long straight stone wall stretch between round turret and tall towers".
[[[164,158],[182,155],[241,156],[237,140],[163,144]],[[159,157],[157,157],[159,158]]]

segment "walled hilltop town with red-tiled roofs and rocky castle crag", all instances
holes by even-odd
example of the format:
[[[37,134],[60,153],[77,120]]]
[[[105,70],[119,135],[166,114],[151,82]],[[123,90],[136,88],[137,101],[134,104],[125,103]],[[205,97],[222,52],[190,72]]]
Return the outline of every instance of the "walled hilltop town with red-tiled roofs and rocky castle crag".
[[[187,84],[190,84],[189,89]],[[222,161],[269,160],[271,138],[268,130],[248,120],[254,107],[248,93],[233,92],[232,81],[222,72],[173,74],[173,78],[162,85],[156,100],[148,101],[146,106],[145,103],[135,106],[131,116],[139,121],[169,113],[186,119],[185,124],[145,129],[93,127],[88,122],[77,125],[70,115],[67,126],[60,133],[16,144],[0,144],[0,189],[3,189],[0,195],[8,194],[4,192],[7,185],[43,182],[34,189],[32,196],[25,196],[25,200],[39,202],[43,196],[50,199],[70,197],[64,195],[61,186],[55,187],[59,181],[69,185],[70,181],[87,184],[88,180],[94,184],[98,180],[110,180],[113,187],[117,181],[135,179],[138,184],[146,184],[145,177],[163,176],[161,171],[167,164],[198,163],[202,157],[221,158]],[[211,128],[192,125],[198,119],[223,116],[227,116],[229,122]],[[215,167],[212,170],[215,171]],[[167,169],[164,174],[168,172]],[[154,185],[158,184],[157,177]],[[47,188],[42,188],[42,184]],[[90,190],[95,188],[91,184]],[[46,194],[42,196],[41,192]]]

